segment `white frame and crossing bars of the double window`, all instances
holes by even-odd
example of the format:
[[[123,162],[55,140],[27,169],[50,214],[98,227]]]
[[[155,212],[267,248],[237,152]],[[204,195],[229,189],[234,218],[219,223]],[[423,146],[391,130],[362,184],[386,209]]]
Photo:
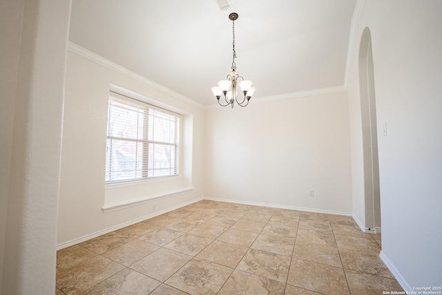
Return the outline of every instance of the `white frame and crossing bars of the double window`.
[[[135,98],[137,97],[137,98]],[[114,99],[113,99],[114,98]],[[131,183],[135,183],[135,184],[139,184],[142,182],[151,182],[151,181],[161,181],[161,180],[169,180],[171,178],[180,178],[180,161],[181,161],[181,149],[180,149],[180,142],[181,142],[181,135],[182,135],[182,115],[180,113],[177,113],[175,111],[172,111],[171,109],[168,108],[164,108],[161,106],[155,106],[155,104],[151,104],[149,102],[144,101],[144,99],[142,98],[147,98],[147,97],[142,97],[142,95],[124,95],[122,93],[113,91],[112,89],[109,91],[108,94],[108,115],[107,115],[107,122],[106,122],[106,165],[105,165],[105,171],[104,171],[104,183],[107,186],[119,186],[119,185],[128,185]],[[147,100],[147,99],[146,99]],[[153,99],[152,99],[153,100]],[[148,124],[148,119],[144,119],[143,120],[143,124],[144,124],[144,135],[143,138],[141,140],[139,139],[126,139],[127,142],[141,142],[143,144],[162,144],[162,145],[168,145],[168,146],[173,146],[175,148],[175,153],[174,153],[174,157],[175,157],[175,166],[171,167],[169,169],[173,169],[174,170],[174,174],[171,175],[153,175],[153,176],[149,176],[149,160],[147,160],[146,162],[144,162],[144,160],[141,161],[141,164],[144,165],[144,167],[146,168],[142,168],[142,177],[137,177],[136,172],[135,172],[135,178],[130,178],[130,179],[124,179],[124,180],[106,180],[108,178],[108,173],[111,173],[111,169],[108,169],[108,158],[107,158],[107,154],[108,154],[108,140],[124,140],[124,138],[122,137],[115,137],[115,136],[109,136],[109,118],[110,118],[110,109],[111,109],[111,101],[116,101],[116,102],[120,102],[120,103],[124,103],[126,102],[128,106],[130,107],[136,107],[138,106],[138,111],[140,111],[140,109],[143,109],[144,115],[146,115],[146,112],[149,112],[149,109],[153,110],[153,111],[158,111],[161,113],[165,113],[168,115],[173,115],[175,117],[175,143],[169,143],[169,142],[157,142],[154,140],[149,140],[148,138],[148,133],[146,133],[146,127],[148,127],[146,124]],[[147,138],[147,139],[146,139]],[[143,153],[143,158],[146,157],[147,159],[149,158],[148,156],[148,148],[147,149],[143,149],[142,151]],[[137,156],[135,155],[135,158],[137,158]],[[137,161],[138,162],[138,161]]]

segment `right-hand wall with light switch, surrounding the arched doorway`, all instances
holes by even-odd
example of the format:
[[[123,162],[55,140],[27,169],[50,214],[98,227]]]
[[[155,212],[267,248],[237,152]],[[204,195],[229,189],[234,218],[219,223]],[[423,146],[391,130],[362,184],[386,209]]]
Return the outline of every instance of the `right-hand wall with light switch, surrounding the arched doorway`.
[[[363,220],[357,60],[362,32],[368,27],[378,125],[381,257],[406,291],[442,282],[441,15],[439,0],[365,1],[350,53],[353,211]]]

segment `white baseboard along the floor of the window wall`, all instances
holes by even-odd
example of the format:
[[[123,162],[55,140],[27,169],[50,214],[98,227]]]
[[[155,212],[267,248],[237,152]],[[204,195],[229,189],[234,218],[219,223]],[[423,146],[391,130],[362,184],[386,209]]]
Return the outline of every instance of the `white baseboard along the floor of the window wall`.
[[[140,218],[136,218],[134,220],[131,220],[131,221],[128,221],[128,222],[124,222],[124,223],[119,224],[119,225],[115,225],[114,227],[109,227],[108,229],[103,229],[101,231],[96,231],[93,234],[88,234],[86,236],[81,236],[80,238],[75,238],[73,240],[69,240],[68,242],[62,242],[61,244],[57,245],[57,251],[60,250],[60,249],[64,249],[66,247],[69,247],[69,246],[76,245],[79,242],[84,242],[86,240],[90,240],[91,238],[97,238],[97,236],[102,236],[102,235],[108,234],[108,233],[110,233],[112,231],[116,231],[118,229],[122,229],[123,227],[128,227],[129,225],[134,225],[137,222],[141,222],[143,220],[146,220],[146,219],[149,219],[149,218],[153,218],[155,216],[159,216],[161,214],[173,211],[175,209],[179,209],[181,207],[187,206],[189,204],[193,204],[193,203],[198,202],[200,200],[203,200],[203,198],[193,199],[193,200],[191,200],[189,202],[184,202],[182,204],[178,204],[176,206],[169,207],[169,208],[164,209],[162,211],[156,211],[156,212],[153,212],[153,213],[148,214],[146,216],[143,216],[143,217],[140,217]]]

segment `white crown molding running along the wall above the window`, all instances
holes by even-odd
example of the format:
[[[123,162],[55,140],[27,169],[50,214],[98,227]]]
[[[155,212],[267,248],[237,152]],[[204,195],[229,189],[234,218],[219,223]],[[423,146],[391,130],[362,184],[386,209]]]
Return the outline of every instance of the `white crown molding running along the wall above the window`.
[[[97,55],[96,53],[93,53],[92,51],[87,50],[86,48],[81,47],[81,46],[73,43],[72,41],[69,41],[68,50],[71,53],[75,53],[81,57],[89,59],[90,61],[94,61],[97,64],[100,64],[102,66],[105,66],[106,68],[114,70],[115,72],[120,73],[126,77],[131,78],[131,79],[134,79],[135,81],[140,82],[146,86],[154,88],[157,91],[161,91],[162,93],[165,93],[166,95],[170,95],[171,97],[174,97],[176,99],[180,99],[183,102],[186,102],[187,104],[197,106],[198,108],[204,108],[204,106],[202,104],[200,104],[199,102],[195,102],[195,100],[190,99],[189,97],[181,95],[180,93],[177,93],[167,87],[164,87],[161,84],[153,82],[152,80],[149,80],[140,74],[137,74],[131,70],[128,70],[127,68],[124,68],[123,66],[120,66],[119,64],[115,64],[115,62],[105,59],[104,57]]]

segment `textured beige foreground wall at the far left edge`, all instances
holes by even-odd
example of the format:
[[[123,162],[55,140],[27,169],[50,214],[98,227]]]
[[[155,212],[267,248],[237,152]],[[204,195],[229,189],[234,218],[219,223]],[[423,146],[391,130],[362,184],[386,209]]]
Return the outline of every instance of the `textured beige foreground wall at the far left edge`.
[[[53,294],[70,1],[1,1],[0,19],[0,293]]]

